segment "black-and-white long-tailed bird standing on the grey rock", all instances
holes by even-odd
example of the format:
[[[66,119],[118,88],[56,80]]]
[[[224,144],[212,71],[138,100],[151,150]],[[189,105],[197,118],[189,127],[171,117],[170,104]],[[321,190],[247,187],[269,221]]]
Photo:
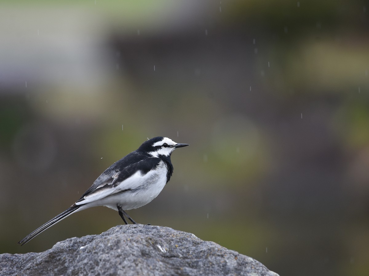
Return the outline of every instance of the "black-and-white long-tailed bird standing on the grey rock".
[[[18,244],[26,244],[62,219],[94,206],[117,210],[125,224],[128,224],[125,217],[136,224],[125,210],[142,207],[159,195],[173,173],[170,155],[176,148],[184,146],[188,144],[176,143],[168,137],[148,139],[137,150],[108,167],[72,206],[38,227]]]

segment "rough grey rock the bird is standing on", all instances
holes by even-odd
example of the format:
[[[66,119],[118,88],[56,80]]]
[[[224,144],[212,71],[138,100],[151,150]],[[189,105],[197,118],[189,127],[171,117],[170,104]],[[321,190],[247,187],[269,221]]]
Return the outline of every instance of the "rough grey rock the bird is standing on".
[[[260,262],[169,227],[129,224],[40,253],[0,254],[0,275],[268,275]]]

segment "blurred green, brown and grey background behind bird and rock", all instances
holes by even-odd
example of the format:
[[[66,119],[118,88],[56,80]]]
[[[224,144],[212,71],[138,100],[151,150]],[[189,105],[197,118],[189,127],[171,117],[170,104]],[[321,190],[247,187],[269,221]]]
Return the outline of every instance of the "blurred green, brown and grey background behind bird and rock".
[[[0,253],[121,224],[80,198],[147,138],[188,143],[140,223],[280,275],[369,271],[366,1],[0,3]]]

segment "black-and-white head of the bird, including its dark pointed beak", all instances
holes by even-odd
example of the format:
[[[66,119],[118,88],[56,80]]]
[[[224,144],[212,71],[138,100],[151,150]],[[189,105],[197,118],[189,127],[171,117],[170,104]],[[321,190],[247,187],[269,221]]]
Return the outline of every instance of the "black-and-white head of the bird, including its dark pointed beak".
[[[154,157],[159,155],[170,156],[176,148],[183,146],[188,146],[188,144],[176,143],[168,137],[155,137],[143,142],[138,151],[146,152]]]

